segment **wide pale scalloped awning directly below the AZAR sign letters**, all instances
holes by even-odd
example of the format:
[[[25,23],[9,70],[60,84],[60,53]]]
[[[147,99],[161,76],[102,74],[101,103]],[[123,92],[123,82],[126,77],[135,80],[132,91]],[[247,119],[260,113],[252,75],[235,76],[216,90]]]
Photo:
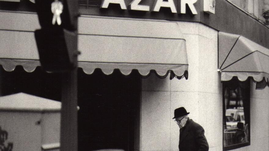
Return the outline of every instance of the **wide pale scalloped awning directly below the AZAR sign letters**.
[[[132,69],[160,77],[171,71],[181,78],[187,73],[185,40],[177,23],[119,18],[79,18],[79,66],[87,74],[101,68],[105,74]],[[185,74],[187,78],[187,74]]]

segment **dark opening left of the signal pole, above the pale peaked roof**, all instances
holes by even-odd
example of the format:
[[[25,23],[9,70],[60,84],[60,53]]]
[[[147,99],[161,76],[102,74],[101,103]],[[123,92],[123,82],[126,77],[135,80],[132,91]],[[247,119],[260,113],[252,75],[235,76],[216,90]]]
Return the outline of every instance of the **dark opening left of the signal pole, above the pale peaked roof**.
[[[22,66],[8,72],[0,66],[1,95],[19,92],[61,101],[61,74],[47,73],[37,67],[33,72],[26,72]]]

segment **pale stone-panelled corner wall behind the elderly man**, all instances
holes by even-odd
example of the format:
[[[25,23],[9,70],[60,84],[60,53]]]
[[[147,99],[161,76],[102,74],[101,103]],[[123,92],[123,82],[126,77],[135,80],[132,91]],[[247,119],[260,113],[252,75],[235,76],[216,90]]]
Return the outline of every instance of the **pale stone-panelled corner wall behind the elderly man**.
[[[223,100],[218,63],[218,31],[200,23],[178,22],[186,39],[189,79],[142,80],[139,151],[177,151],[179,127],[172,120],[184,106],[205,129],[210,151],[223,150]],[[269,88],[255,90],[251,81],[250,146],[235,151],[269,149]]]

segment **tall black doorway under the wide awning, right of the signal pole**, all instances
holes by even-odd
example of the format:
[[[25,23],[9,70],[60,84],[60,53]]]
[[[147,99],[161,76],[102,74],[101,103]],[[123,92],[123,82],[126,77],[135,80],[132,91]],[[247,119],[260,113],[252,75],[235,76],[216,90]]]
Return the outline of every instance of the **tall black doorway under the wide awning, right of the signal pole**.
[[[134,150],[136,113],[140,106],[140,75],[124,76],[119,70],[105,75],[96,69],[78,74],[79,151]]]

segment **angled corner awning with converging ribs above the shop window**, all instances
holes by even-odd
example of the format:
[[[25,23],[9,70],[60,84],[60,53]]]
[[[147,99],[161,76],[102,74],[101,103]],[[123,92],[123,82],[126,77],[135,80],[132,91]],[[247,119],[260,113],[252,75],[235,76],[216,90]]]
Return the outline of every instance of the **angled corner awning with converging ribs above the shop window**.
[[[238,77],[245,81],[269,78],[269,49],[235,34],[219,32],[219,70],[221,81]]]

